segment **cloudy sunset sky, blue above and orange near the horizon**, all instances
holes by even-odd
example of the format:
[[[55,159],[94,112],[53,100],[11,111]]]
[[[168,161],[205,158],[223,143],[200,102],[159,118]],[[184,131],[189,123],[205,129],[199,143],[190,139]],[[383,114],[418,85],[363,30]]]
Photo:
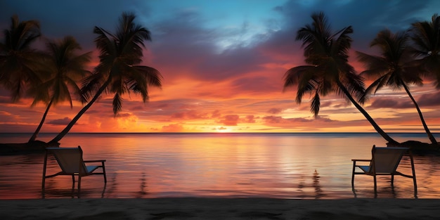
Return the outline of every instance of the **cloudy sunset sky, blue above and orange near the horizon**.
[[[321,100],[314,118],[309,96],[295,103],[295,88],[283,91],[283,75],[302,65],[299,27],[311,13],[323,11],[332,30],[351,25],[351,65],[363,70],[354,51],[375,53],[368,44],[380,30],[406,30],[412,22],[430,20],[440,1],[382,0],[3,0],[0,29],[20,20],[39,20],[45,38],[75,37],[84,52],[95,51],[93,27],[115,32],[122,12],[134,12],[147,27],[143,65],[162,73],[162,89],[150,88],[150,101],[131,94],[113,117],[112,96],[103,96],[71,132],[374,132],[356,108],[338,96]],[[436,11],[437,10],[437,11]],[[3,39],[1,32],[0,39]],[[42,48],[44,40],[36,47]],[[93,53],[90,70],[98,62]],[[369,84],[370,82],[366,82]],[[431,82],[411,86],[425,120],[440,132],[440,91]],[[32,99],[11,103],[0,90],[0,132],[33,132],[44,113]],[[61,131],[82,104],[52,108],[41,132]],[[382,90],[365,109],[387,132],[422,132],[418,114],[406,93]]]

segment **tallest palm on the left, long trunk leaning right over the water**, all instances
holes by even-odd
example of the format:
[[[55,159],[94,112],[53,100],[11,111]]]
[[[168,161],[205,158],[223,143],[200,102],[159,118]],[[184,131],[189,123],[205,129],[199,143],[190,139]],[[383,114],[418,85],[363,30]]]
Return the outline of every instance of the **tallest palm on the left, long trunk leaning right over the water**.
[[[145,102],[148,101],[148,85],[161,86],[162,76],[159,71],[153,67],[139,65],[142,62],[142,50],[145,48],[143,41],[151,38],[145,27],[136,25],[135,18],[132,13],[122,13],[116,34],[111,34],[101,27],[94,28],[93,32],[98,34],[95,43],[100,50],[100,63],[93,75],[86,77],[82,87],[82,101],[89,103],[50,143],[58,143],[104,91],[115,94],[112,104],[113,113],[117,115],[122,109],[124,93],[138,93]]]

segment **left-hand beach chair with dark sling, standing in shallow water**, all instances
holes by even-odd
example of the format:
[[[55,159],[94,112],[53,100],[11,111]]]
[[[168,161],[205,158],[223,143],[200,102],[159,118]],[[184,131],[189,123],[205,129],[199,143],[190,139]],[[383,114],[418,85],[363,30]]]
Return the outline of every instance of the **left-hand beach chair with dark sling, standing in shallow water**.
[[[48,155],[53,155],[61,168],[61,172],[46,176],[46,165]],[[86,163],[101,163],[95,166],[86,166]],[[102,172],[94,172],[101,168]],[[46,148],[46,155],[44,156],[43,167],[43,182],[41,188],[44,190],[44,183],[47,178],[60,175],[72,176],[72,186],[75,186],[75,176],[78,176],[78,191],[81,189],[81,179],[83,176],[90,176],[93,174],[102,174],[104,176],[104,183],[107,183],[107,176],[105,175],[105,160],[82,160],[82,149],[77,148]]]

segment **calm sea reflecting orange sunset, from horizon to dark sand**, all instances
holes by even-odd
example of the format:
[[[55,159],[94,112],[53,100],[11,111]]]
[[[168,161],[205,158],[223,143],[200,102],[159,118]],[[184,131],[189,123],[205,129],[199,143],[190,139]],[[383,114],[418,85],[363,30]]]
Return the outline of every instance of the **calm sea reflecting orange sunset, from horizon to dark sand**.
[[[41,134],[49,141],[55,134]],[[391,134],[396,141],[429,141],[425,134]],[[30,134],[0,134],[23,143]],[[436,134],[440,141],[440,135]],[[68,134],[61,147],[81,145],[84,160],[107,160],[103,176],[82,179],[81,198],[268,197],[415,198],[412,179],[357,175],[351,159],[370,159],[385,145],[378,134]],[[0,199],[72,198],[70,176],[46,180],[44,154],[0,156]],[[48,173],[56,173],[56,162]],[[418,198],[440,198],[440,156],[415,155]],[[409,158],[398,168],[410,174]]]

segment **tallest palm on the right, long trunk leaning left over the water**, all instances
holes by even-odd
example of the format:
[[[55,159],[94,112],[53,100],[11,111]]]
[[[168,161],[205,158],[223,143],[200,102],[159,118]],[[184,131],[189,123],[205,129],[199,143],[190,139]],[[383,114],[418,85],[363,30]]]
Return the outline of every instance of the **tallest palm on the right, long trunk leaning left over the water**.
[[[373,120],[368,112],[355,100],[362,101],[363,79],[356,75],[354,67],[349,65],[349,48],[353,32],[351,26],[332,34],[323,13],[313,13],[311,25],[297,32],[296,40],[302,40],[305,62],[308,65],[293,67],[285,72],[284,88],[298,85],[296,101],[301,103],[305,93],[313,94],[311,112],[318,115],[321,96],[337,93],[347,98],[368,119],[374,129],[389,143],[396,144]]]

